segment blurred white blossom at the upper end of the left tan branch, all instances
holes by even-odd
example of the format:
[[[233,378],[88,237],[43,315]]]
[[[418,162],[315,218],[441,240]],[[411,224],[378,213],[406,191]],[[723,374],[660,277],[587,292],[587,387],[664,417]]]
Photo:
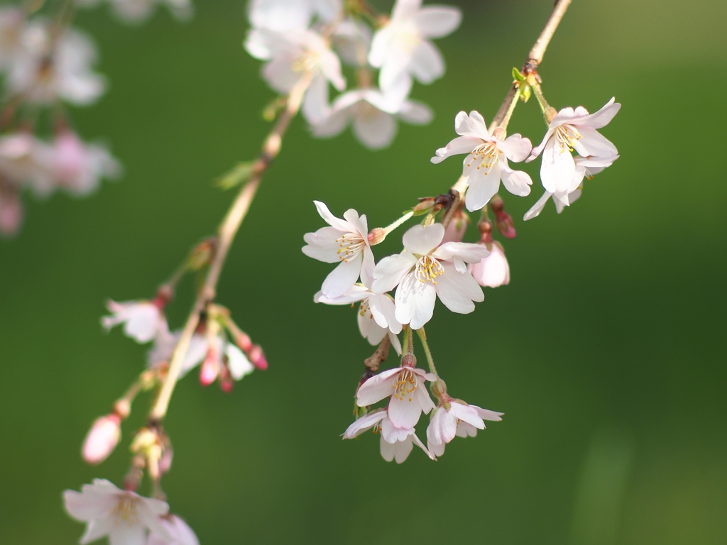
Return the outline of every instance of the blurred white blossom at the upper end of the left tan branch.
[[[289,93],[304,73],[312,74],[301,108],[311,124],[320,123],[328,113],[328,82],[339,91],[345,89],[339,58],[313,31],[253,28],[247,34],[245,49],[252,57],[267,61],[262,66],[262,77],[277,92]]]

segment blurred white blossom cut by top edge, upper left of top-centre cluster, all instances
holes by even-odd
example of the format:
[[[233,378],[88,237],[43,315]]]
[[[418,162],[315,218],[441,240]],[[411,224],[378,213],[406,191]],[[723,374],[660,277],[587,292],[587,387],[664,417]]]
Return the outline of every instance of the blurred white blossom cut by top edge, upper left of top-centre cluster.
[[[342,12],[341,0],[252,0],[248,18],[256,28],[270,31],[301,31],[310,26],[314,17],[324,23]]]

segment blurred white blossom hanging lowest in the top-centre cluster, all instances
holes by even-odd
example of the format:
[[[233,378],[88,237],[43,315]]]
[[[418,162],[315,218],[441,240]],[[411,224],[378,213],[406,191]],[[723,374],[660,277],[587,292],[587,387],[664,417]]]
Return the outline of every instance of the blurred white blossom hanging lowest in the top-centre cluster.
[[[313,126],[316,137],[334,137],[350,124],[359,142],[378,150],[386,148],[396,135],[397,121],[425,125],[433,118],[430,108],[415,100],[401,100],[398,92],[356,89],[340,94],[328,116]]]

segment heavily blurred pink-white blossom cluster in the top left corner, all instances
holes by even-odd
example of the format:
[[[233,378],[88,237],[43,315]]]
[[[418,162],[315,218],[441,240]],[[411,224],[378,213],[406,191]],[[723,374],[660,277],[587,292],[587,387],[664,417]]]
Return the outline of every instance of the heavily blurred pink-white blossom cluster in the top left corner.
[[[109,0],[124,20],[139,21],[156,0]],[[23,192],[46,198],[57,190],[74,196],[93,193],[103,178],[121,174],[121,165],[105,145],[84,142],[71,127],[64,103],[87,106],[105,92],[106,81],[94,71],[97,50],[89,37],[68,26],[73,7],[101,0],[63,2],[55,18],[43,2],[0,7],[0,234],[13,235],[23,222]],[[188,0],[166,0],[180,16]],[[50,134],[44,130],[47,109]]]

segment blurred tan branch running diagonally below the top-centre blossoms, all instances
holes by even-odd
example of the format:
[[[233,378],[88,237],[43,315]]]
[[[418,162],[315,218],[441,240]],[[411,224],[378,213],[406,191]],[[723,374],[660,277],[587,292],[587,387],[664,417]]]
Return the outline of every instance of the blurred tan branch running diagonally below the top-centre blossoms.
[[[253,167],[252,177],[241,188],[240,193],[238,193],[235,201],[233,201],[227,215],[225,215],[225,219],[222,220],[217,230],[217,249],[209,265],[204,284],[197,294],[192,312],[190,312],[184,329],[182,330],[182,336],[180,336],[177,347],[174,348],[174,352],[172,353],[172,360],[169,361],[169,371],[166,373],[164,382],[161,384],[159,393],[149,413],[149,420],[152,422],[162,421],[164,420],[164,416],[166,416],[169,401],[172,399],[174,387],[177,384],[177,379],[179,379],[180,371],[182,370],[182,362],[187,355],[192,335],[199,325],[201,312],[214,299],[217,280],[220,278],[222,266],[225,265],[225,258],[227,257],[228,251],[230,251],[230,246],[232,246],[242,220],[245,218],[252,204],[255,193],[257,193],[257,188],[260,187],[262,175],[280,152],[283,135],[288,129],[292,118],[300,110],[303,95],[306,89],[308,89],[308,85],[310,85],[310,80],[311,74],[306,73],[288,95],[285,110],[281,113],[280,118],[278,118],[278,123],[262,145],[262,153],[260,153],[260,157]]]

